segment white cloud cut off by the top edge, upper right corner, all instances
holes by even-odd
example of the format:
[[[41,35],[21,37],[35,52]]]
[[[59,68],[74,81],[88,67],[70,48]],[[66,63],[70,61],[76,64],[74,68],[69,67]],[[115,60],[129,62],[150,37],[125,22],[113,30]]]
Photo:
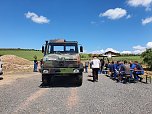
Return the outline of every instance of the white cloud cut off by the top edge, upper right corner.
[[[149,7],[152,4],[152,0],[128,0],[128,4],[133,7],[137,7],[137,6]]]

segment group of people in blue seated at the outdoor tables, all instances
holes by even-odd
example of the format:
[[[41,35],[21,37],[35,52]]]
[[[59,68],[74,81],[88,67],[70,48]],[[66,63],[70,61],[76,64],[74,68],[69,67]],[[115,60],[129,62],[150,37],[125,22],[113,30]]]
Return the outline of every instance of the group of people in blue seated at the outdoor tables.
[[[130,61],[129,63],[125,60],[124,62],[117,61],[108,63],[107,69],[109,75],[113,80],[126,83],[128,80],[142,81],[140,75],[144,74],[144,69],[138,61]]]

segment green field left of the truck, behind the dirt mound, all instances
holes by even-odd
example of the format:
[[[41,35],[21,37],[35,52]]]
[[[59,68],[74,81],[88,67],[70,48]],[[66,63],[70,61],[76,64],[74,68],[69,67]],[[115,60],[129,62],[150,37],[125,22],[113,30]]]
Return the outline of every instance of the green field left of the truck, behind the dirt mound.
[[[28,59],[30,61],[34,60],[34,56],[37,56],[37,59],[40,60],[43,57],[43,53],[37,50],[26,50],[26,49],[0,49],[0,55],[16,55]]]

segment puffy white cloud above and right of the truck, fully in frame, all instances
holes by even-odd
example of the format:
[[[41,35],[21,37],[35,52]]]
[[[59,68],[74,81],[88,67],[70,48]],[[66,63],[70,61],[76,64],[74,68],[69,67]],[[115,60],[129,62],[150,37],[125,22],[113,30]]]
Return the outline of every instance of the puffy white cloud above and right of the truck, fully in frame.
[[[108,19],[116,20],[126,16],[127,11],[122,8],[109,9],[104,13],[100,13],[99,17],[107,17]]]

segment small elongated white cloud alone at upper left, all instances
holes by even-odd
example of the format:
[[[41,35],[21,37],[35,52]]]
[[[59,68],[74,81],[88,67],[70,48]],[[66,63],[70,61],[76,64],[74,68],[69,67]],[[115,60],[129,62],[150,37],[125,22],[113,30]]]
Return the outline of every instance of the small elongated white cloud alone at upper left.
[[[47,17],[38,16],[36,13],[33,13],[33,12],[25,13],[25,16],[27,19],[31,19],[33,22],[39,23],[39,24],[44,24],[44,23],[50,22],[50,20],[47,19]]]

